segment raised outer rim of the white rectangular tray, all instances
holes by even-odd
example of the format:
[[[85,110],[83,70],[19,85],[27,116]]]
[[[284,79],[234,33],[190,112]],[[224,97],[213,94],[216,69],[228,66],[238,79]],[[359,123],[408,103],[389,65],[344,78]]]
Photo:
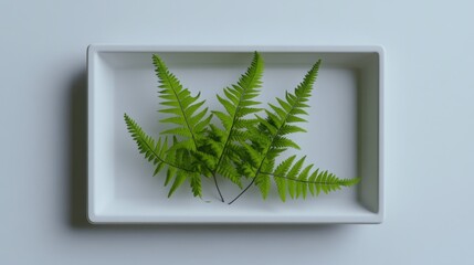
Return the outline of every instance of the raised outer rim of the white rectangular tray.
[[[318,218],[318,220],[312,219],[299,219],[293,221],[257,221],[246,220],[240,222],[229,221],[213,221],[211,220],[162,220],[162,221],[119,221],[108,220],[107,216],[101,216],[95,214],[91,202],[94,200],[93,192],[94,187],[91,181],[93,176],[93,158],[91,150],[94,148],[91,120],[94,113],[92,104],[93,100],[93,80],[94,80],[94,55],[106,52],[232,52],[232,53],[247,53],[253,51],[260,52],[272,52],[272,53],[376,53],[378,54],[378,70],[379,70],[379,82],[378,82],[378,212],[373,212],[368,218],[357,218],[348,220],[346,216],[341,218]],[[86,219],[91,224],[354,224],[354,223],[370,223],[380,224],[383,222],[386,205],[385,205],[385,47],[382,45],[155,45],[155,44],[107,44],[107,43],[94,43],[89,44],[86,49],[86,73],[87,73],[87,202],[86,202]],[[113,219],[113,216],[112,216]]]

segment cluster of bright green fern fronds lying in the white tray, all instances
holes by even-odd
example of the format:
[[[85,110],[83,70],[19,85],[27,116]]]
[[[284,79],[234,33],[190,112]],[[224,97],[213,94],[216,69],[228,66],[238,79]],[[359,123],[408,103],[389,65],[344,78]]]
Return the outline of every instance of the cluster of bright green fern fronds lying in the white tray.
[[[201,178],[213,178],[220,193],[217,177],[223,177],[243,189],[229,204],[255,184],[263,199],[267,198],[272,180],[282,201],[315,197],[322,191],[328,193],[358,183],[359,179],[339,179],[334,173],[313,169],[305,165],[306,157],[296,155],[284,159],[275,167],[276,159],[289,148],[299,146],[287,136],[305,132],[299,123],[307,123],[306,109],[316,81],[320,61],[313,65],[303,82],[293,93],[286,92],[277,104],[262,108],[256,100],[262,88],[264,63],[255,52],[252,63],[239,81],[217,95],[223,110],[211,110],[183,88],[179,80],[170,73],[165,62],[152,56],[159,81],[159,109],[165,115],[160,123],[172,128],[161,131],[158,140],[146,135],[141,127],[125,114],[125,123],[133,139],[148,161],[156,167],[154,176],[167,169],[165,186],[172,182],[170,197],[188,180],[194,197],[202,197]],[[262,116],[265,117],[262,117]],[[212,124],[217,117],[220,125]],[[168,138],[171,136],[171,138]],[[223,201],[223,198],[221,195]]]

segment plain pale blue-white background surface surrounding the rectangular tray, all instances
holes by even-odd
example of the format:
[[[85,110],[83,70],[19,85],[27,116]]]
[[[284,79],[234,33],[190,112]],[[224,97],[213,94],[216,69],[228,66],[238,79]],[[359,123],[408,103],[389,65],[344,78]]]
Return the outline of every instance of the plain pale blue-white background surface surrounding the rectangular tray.
[[[471,264],[471,1],[0,1],[0,264]],[[386,222],[93,226],[89,43],[386,47]]]

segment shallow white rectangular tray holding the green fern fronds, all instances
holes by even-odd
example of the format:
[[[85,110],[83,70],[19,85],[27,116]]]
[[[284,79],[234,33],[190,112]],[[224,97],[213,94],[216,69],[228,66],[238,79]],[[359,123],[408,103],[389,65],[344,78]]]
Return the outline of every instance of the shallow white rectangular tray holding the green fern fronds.
[[[217,107],[215,93],[235,83],[262,53],[262,102],[273,102],[323,64],[312,96],[308,132],[295,135],[301,155],[339,178],[360,177],[357,187],[281,202],[252,188],[232,205],[221,203],[212,181],[203,200],[183,184],[171,199],[164,176],[138,153],[123,116],[151,136],[159,132],[157,78],[151,54],[159,54],[186,87],[202,92]],[[91,223],[380,223],[382,178],[382,49],[378,46],[136,46],[91,45],[88,73],[88,220]],[[239,191],[221,180],[229,201]],[[275,188],[273,187],[273,190]]]

